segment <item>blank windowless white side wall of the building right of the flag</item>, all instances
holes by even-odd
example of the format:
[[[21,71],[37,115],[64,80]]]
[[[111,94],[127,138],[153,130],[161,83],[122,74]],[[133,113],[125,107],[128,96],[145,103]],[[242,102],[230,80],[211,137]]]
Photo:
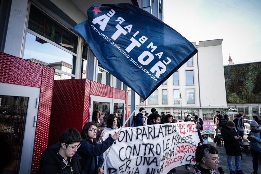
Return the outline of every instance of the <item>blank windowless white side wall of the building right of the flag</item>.
[[[198,51],[201,107],[226,108],[222,46],[199,47]]]

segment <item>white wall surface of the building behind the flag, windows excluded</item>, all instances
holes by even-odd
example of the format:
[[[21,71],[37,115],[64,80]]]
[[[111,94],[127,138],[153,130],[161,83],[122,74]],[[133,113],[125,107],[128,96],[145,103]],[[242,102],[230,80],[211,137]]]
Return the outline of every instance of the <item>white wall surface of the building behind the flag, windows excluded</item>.
[[[148,104],[147,99],[143,104],[141,104],[141,107],[145,108],[145,111],[150,113],[151,108],[156,108],[160,114],[160,112],[163,111],[162,108],[164,107],[170,108],[170,113],[173,115],[174,109],[181,108],[181,104],[174,104],[173,89],[179,89],[179,93],[182,97],[182,110],[185,108],[190,108],[190,110],[197,110],[197,114],[200,117],[203,115],[202,108],[220,110],[222,108],[227,108],[221,46],[222,39],[201,41],[199,42],[199,45],[195,45],[195,43],[192,44],[194,44],[194,46],[199,51],[192,57],[193,66],[187,66],[186,62],[177,70],[179,72],[179,85],[173,85],[172,75],[167,79],[167,86],[159,86],[158,104]],[[185,85],[186,70],[193,70],[194,85]],[[167,104],[162,103],[162,89],[168,90]],[[194,89],[195,104],[187,104],[186,89]],[[140,96],[136,94],[135,105],[138,106],[139,103]]]

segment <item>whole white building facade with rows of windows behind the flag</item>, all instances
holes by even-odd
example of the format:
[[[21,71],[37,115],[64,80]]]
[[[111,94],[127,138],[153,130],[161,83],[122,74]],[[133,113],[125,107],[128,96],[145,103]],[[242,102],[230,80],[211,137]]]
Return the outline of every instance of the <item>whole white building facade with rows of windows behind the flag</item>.
[[[189,114],[192,117],[198,115],[203,120],[212,121],[216,110],[220,110],[222,114],[227,110],[222,39],[201,41],[199,45],[195,42],[193,44],[198,53],[141,104],[145,111],[150,113],[151,108],[156,108],[159,114],[165,112],[180,120],[184,120]],[[136,94],[135,105],[138,106],[141,101],[143,99]],[[128,114],[130,102],[129,89]],[[212,128],[211,121],[208,126]]]

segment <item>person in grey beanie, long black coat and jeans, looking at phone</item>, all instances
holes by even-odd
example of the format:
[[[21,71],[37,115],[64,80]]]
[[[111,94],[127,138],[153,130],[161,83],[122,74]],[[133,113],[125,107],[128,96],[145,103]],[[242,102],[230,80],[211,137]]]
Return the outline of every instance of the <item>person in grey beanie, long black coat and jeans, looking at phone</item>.
[[[235,123],[233,121],[227,121],[227,126],[224,126],[221,129],[221,135],[224,140],[226,153],[227,153],[227,164],[231,174],[245,174],[240,170],[240,161],[241,161],[241,149],[239,140],[242,138],[240,137],[236,130],[234,129]],[[234,171],[232,160],[233,156],[235,157],[236,163],[236,171]]]

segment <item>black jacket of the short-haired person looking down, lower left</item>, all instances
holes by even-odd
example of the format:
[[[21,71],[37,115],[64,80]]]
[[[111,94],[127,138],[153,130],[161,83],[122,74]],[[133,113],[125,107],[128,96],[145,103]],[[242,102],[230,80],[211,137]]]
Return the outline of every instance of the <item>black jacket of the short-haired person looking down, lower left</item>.
[[[80,156],[75,153],[73,157],[68,157],[69,165],[66,165],[62,156],[58,154],[59,149],[60,143],[56,143],[43,151],[36,174],[83,174]]]

